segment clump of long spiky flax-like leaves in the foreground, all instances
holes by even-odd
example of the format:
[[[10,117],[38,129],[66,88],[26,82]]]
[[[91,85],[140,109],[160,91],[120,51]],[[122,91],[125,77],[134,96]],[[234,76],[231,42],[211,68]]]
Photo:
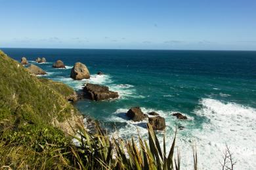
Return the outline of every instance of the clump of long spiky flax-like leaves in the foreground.
[[[166,148],[165,136],[161,146],[150,124],[148,124],[148,141],[142,140],[139,135],[139,144],[135,143],[133,138],[110,139],[98,126],[95,134],[79,126],[74,138],[78,143],[72,146],[71,152],[75,157],[75,163],[81,169],[182,169],[179,150],[177,157],[174,156],[176,132],[171,148]],[[198,169],[196,150],[193,158],[196,170]]]

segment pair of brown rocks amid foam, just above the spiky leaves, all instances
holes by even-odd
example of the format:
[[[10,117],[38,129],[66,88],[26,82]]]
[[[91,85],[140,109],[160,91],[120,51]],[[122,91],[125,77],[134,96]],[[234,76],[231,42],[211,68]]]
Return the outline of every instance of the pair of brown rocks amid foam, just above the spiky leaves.
[[[154,116],[148,117],[148,114]],[[148,114],[144,114],[140,107],[132,107],[128,110],[126,116],[135,122],[140,122],[148,118],[148,123],[152,126],[154,130],[165,129],[165,118],[159,116],[157,112],[149,112]]]

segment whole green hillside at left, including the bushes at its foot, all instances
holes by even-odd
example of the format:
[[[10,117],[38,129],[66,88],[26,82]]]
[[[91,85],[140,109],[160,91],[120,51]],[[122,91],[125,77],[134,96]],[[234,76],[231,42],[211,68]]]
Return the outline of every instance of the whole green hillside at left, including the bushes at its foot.
[[[74,93],[61,82],[37,78],[0,50],[0,169],[63,164],[54,154],[71,144],[64,131],[81,118],[67,100]]]

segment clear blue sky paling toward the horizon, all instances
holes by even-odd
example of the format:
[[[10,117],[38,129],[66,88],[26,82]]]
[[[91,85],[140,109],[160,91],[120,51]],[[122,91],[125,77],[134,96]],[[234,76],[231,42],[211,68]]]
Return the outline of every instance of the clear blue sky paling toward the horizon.
[[[0,48],[256,50],[256,0],[0,4]]]

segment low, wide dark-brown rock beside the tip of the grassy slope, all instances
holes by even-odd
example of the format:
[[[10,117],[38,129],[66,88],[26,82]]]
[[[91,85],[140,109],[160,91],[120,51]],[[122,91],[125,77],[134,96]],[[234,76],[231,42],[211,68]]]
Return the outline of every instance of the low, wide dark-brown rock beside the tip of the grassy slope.
[[[85,95],[95,101],[105,100],[105,99],[114,99],[117,98],[119,95],[117,92],[112,92],[108,89],[107,86],[100,86],[98,84],[85,84],[83,88],[83,92]]]

